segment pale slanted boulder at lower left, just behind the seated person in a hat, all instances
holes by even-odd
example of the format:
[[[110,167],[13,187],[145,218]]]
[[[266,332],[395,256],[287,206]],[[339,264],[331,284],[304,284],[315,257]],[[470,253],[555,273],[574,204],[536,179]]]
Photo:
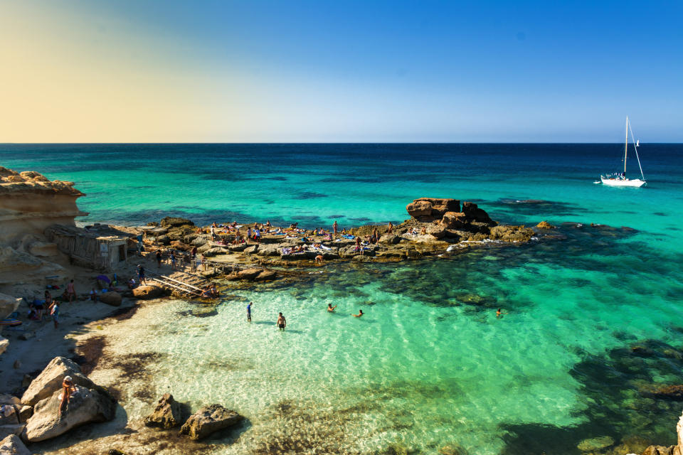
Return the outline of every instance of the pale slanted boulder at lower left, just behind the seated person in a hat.
[[[80,367],[65,357],[53,358],[48,366],[31,381],[26,392],[23,392],[21,403],[33,406],[40,400],[50,397],[56,390],[61,390],[65,376],[71,376],[73,383],[83,387],[96,387],[95,383],[80,373]]]

